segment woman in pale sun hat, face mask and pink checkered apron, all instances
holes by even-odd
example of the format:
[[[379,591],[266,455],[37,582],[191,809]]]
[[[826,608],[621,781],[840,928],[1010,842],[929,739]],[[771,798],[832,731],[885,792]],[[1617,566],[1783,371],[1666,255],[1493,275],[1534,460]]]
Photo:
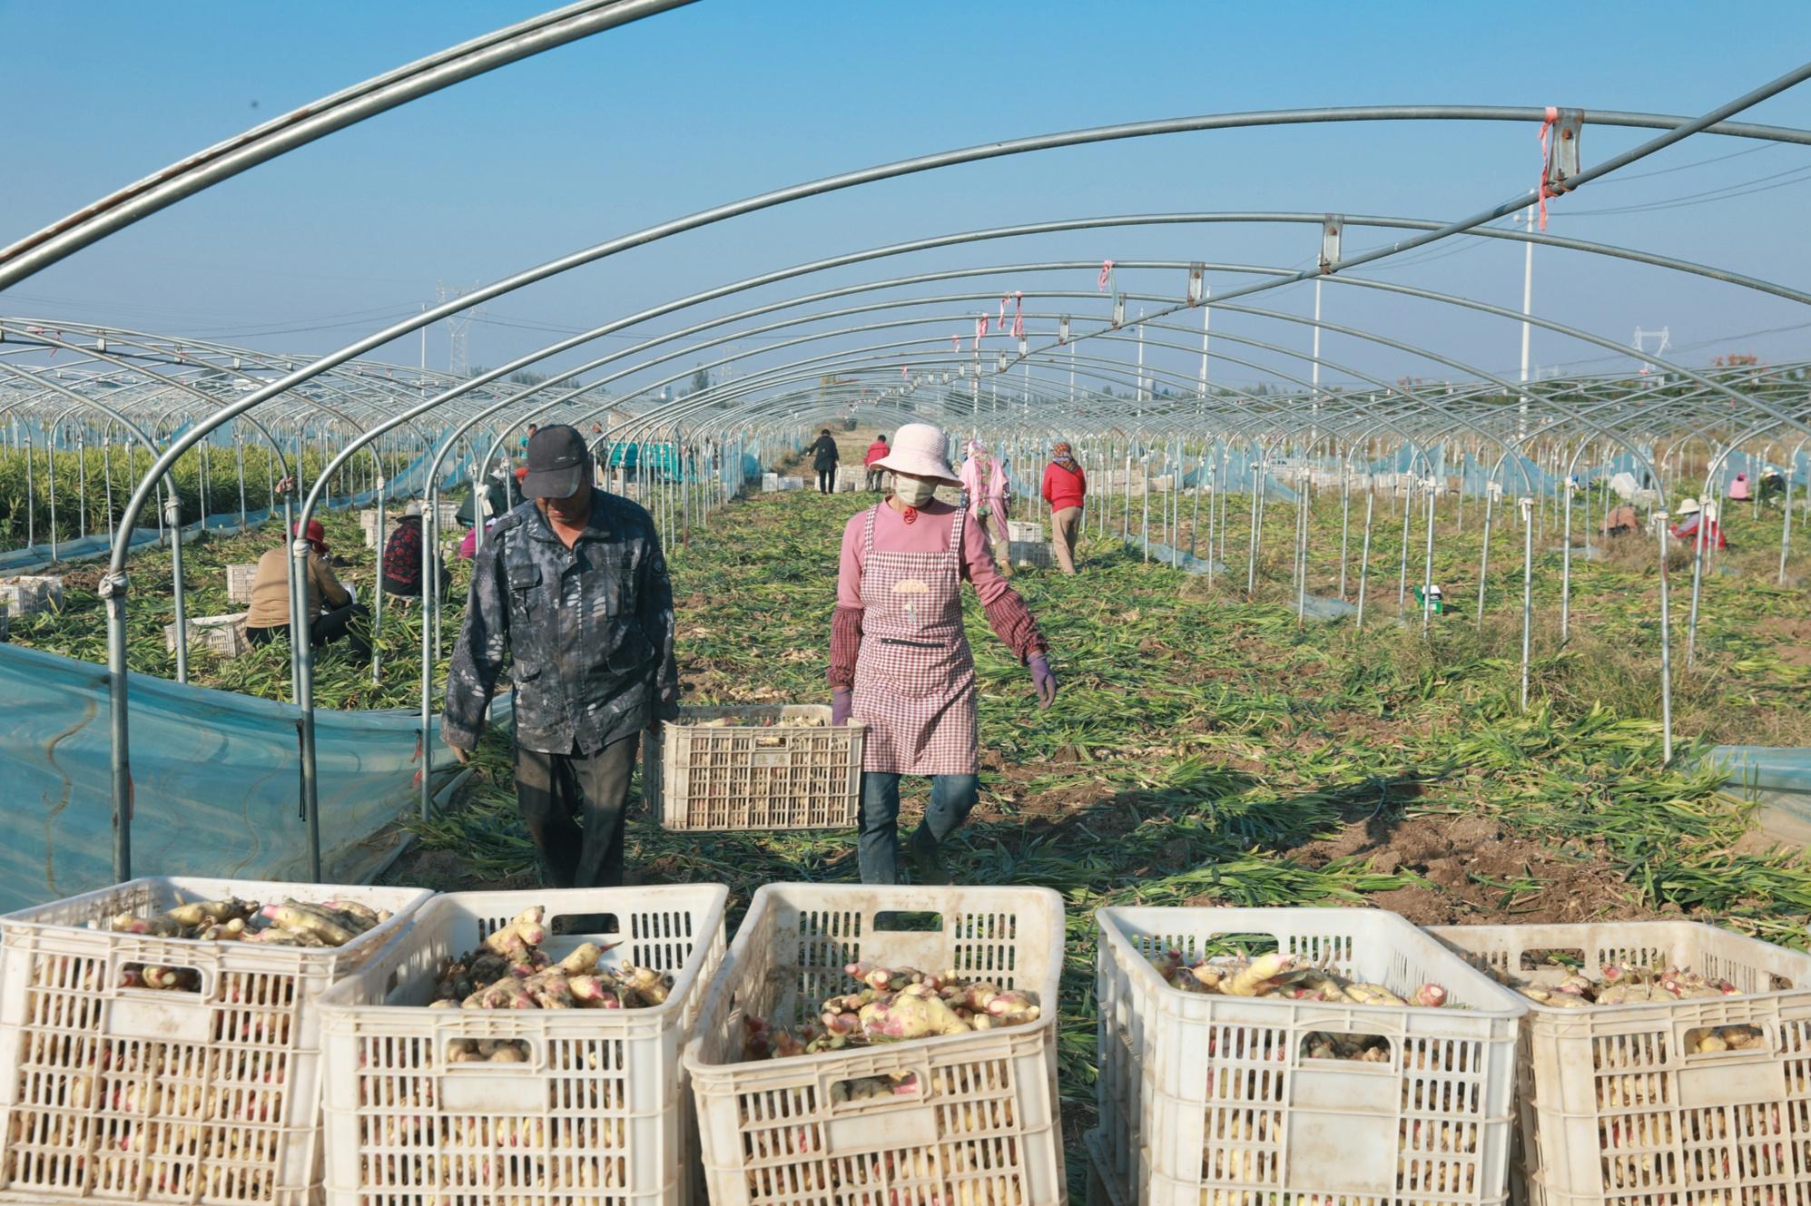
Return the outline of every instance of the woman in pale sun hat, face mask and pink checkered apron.
[[[938,847],[974,808],[980,788],[963,579],[994,634],[1030,668],[1038,706],[1056,701],[1056,675],[1036,621],[1000,576],[967,507],[933,496],[938,485],[958,483],[944,433],[906,424],[877,464],[893,473],[893,494],[842,529],[829,634],[831,724],[867,726],[864,884],[898,882],[900,775],[929,775],[931,804],[907,844],[915,878],[929,884],[945,880]]]

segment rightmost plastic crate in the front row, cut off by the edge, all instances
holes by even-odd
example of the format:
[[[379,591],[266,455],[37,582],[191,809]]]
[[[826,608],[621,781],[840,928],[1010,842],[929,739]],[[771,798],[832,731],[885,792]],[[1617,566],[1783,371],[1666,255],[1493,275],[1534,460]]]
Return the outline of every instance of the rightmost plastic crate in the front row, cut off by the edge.
[[[1740,994],[1650,1005],[1528,1003],[1518,1088],[1530,1206],[1786,1206],[1811,1201],[1811,956],[1695,922],[1443,925],[1436,938],[1518,980],[1547,952],[1684,967]],[[1528,958],[1534,956],[1534,958]],[[1693,1050],[1760,1027],[1760,1050]]]

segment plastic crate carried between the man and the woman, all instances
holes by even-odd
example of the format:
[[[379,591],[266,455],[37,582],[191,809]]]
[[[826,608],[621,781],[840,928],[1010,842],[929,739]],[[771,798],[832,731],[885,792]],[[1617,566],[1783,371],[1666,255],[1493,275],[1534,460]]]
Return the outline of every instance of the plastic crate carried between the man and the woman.
[[[862,806],[867,726],[824,704],[686,706],[643,737],[643,795],[665,829],[848,829]],[[741,724],[704,721],[730,717]],[[819,726],[771,724],[811,717]]]

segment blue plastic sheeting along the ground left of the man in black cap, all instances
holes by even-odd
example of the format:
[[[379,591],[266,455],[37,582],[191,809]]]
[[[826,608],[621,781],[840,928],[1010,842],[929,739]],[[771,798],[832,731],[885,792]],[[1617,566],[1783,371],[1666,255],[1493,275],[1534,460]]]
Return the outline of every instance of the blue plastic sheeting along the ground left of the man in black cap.
[[[306,878],[301,710],[143,674],[130,675],[129,699],[132,873]],[[0,645],[0,909],[112,884],[105,670]],[[417,806],[418,724],[415,710],[315,713],[330,880],[360,842]],[[458,762],[438,741],[438,721],[435,733],[438,780]]]

